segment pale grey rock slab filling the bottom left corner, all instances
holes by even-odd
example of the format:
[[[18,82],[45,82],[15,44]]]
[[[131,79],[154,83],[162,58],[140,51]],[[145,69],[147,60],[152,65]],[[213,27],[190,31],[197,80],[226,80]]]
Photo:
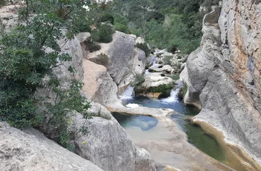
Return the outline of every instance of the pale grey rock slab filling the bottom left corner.
[[[102,171],[35,129],[25,132],[0,122],[0,132],[1,170]]]

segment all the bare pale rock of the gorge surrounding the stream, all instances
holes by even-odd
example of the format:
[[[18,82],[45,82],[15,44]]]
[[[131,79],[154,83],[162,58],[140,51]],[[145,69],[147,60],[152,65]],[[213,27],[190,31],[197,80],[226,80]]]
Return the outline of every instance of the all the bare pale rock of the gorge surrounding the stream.
[[[5,21],[11,7],[0,9]],[[2,11],[1,11],[2,10]],[[3,170],[259,170],[260,169],[260,25],[259,1],[220,1],[203,19],[201,47],[189,56],[156,50],[150,57],[137,48],[142,38],[116,31],[113,41],[100,43],[90,53],[81,33],[63,47],[72,60],[53,72],[66,88],[72,79],[84,83],[82,94],[91,101],[87,120],[89,134],[73,140],[73,153],[36,129],[19,130],[0,124],[0,167]],[[9,14],[8,13],[8,14]],[[187,60],[188,59],[188,60]],[[153,63],[160,64],[153,64]],[[71,74],[68,66],[76,68]],[[151,66],[151,67],[147,67]],[[148,68],[148,70],[146,70]],[[181,73],[180,81],[170,77]],[[191,118],[216,137],[237,158],[226,166],[188,142],[188,135],[170,114],[173,109],[122,103],[120,94],[137,75],[144,75],[135,95],[168,97],[183,81],[188,87],[183,102],[201,109]],[[163,85],[163,86],[162,86]],[[180,87],[179,87],[180,88]],[[161,91],[163,89],[163,92]],[[45,94],[43,88],[37,94]],[[111,112],[152,116],[157,130],[149,135],[125,129]],[[71,129],[84,123],[81,114],[72,116]],[[142,138],[135,137],[141,133]],[[162,134],[162,135],[161,135]],[[140,135],[140,134],[139,134]],[[224,140],[223,140],[224,139]],[[232,168],[230,168],[232,167]]]

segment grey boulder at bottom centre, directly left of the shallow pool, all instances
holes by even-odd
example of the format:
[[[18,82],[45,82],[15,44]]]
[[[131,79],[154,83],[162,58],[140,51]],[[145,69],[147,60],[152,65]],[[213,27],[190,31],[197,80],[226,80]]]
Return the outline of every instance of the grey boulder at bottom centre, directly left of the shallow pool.
[[[148,151],[135,146],[131,137],[102,105],[92,105],[100,108],[100,111],[94,111],[93,119],[84,120],[81,114],[74,118],[74,129],[80,129],[85,123],[89,131],[88,135],[74,141],[76,153],[107,171],[155,170]]]

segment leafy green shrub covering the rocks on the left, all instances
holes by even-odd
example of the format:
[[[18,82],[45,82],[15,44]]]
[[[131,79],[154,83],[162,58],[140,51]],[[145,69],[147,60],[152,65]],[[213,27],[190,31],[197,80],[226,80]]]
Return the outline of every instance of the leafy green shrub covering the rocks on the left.
[[[88,2],[27,0],[27,5],[18,9],[21,24],[8,34],[1,25],[0,120],[18,128],[38,127],[67,146],[72,124],[68,115],[78,111],[83,118],[91,118],[87,112],[90,104],[80,94],[82,83],[72,81],[65,89],[52,73],[53,68],[71,60],[61,53],[63,44],[58,40],[66,43],[80,31],[89,30],[82,8]],[[73,74],[71,66],[68,70]],[[48,93],[35,96],[39,88],[48,89]],[[87,127],[81,129],[87,133]]]

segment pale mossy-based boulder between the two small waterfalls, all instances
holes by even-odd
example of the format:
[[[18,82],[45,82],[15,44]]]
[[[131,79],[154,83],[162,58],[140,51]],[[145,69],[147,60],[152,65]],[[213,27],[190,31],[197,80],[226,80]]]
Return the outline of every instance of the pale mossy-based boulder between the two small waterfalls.
[[[160,98],[170,96],[174,80],[165,77],[162,73],[152,73],[144,77],[145,81],[135,86],[134,91],[137,96],[149,96]]]

